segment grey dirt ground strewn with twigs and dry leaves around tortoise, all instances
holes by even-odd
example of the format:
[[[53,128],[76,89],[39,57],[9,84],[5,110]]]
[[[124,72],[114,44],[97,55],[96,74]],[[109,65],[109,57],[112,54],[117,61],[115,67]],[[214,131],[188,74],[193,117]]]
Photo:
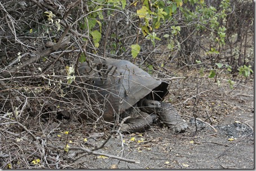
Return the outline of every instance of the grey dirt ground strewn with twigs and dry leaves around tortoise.
[[[33,133],[43,137],[43,142],[25,140],[31,138],[26,132],[21,133],[25,134],[21,136],[23,141],[15,133],[11,134],[14,136],[11,140],[15,140],[11,143],[2,139],[0,168],[9,166],[10,158],[5,157],[8,147],[9,152],[15,152],[11,155],[13,168],[253,169],[253,75],[242,82],[241,78],[234,79],[231,89],[228,75],[218,75],[218,86],[208,75],[197,74],[198,71],[190,71],[184,74],[187,79],[172,80],[165,99],[172,100],[171,104],[188,123],[189,128],[184,133],[153,125],[143,133],[114,133],[107,141],[111,129],[104,129],[100,122],[80,124],[42,119],[39,126],[34,126],[41,129],[33,129]],[[180,75],[174,73],[174,77]],[[69,133],[65,133],[67,131]],[[94,150],[104,142],[107,143],[102,148]],[[64,149],[66,144],[68,152]],[[37,160],[38,164],[29,164]],[[20,166],[21,163],[27,164]]]

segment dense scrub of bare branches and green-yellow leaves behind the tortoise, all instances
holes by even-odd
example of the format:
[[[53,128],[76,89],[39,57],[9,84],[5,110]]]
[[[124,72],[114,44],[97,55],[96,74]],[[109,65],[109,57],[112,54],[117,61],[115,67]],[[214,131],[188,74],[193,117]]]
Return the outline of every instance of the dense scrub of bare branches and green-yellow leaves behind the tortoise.
[[[224,72],[231,88],[238,74],[246,80],[254,71],[249,0],[3,0],[0,9],[0,168],[64,168],[58,158],[67,156],[38,149],[72,150],[68,137],[56,147],[59,125],[49,125],[59,113],[47,104],[67,98],[80,62],[125,59],[166,79],[176,75],[170,67],[196,70],[218,84]],[[27,152],[17,156],[19,148]]]

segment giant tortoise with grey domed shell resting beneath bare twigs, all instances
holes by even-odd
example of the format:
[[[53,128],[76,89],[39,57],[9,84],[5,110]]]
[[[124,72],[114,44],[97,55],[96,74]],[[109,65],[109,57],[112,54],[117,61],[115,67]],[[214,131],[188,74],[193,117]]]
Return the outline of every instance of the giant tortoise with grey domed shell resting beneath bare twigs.
[[[162,102],[168,83],[157,80],[126,60],[83,62],[73,83],[73,98],[87,103],[83,119],[125,120],[122,132],[143,132],[158,119],[175,132],[188,128],[174,107]],[[90,110],[89,110],[90,109]]]

